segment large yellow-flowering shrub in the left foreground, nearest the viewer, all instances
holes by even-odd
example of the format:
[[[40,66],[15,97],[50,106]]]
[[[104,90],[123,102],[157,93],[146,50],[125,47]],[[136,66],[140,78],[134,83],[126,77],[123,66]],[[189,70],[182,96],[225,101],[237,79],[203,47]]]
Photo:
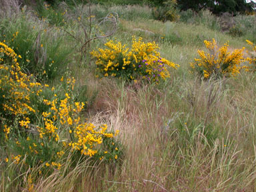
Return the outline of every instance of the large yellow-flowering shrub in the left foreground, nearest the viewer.
[[[54,169],[61,169],[69,151],[74,156],[116,160],[122,153],[116,150],[116,134],[107,133],[107,125],[95,127],[83,121],[85,103],[75,101],[75,79],[68,78],[58,92],[23,73],[19,57],[0,42],[0,140],[16,153],[6,159],[19,164],[25,158],[25,165]],[[44,91],[54,96],[47,99]]]

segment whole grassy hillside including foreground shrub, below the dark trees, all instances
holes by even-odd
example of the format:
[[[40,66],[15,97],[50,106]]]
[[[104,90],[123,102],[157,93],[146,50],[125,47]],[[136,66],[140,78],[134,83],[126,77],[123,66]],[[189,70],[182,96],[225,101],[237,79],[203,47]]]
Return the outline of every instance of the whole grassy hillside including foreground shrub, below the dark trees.
[[[147,5],[8,6],[0,19],[0,42],[11,48],[1,44],[1,191],[256,191],[256,50],[245,41],[256,43],[255,15],[235,18],[237,37],[209,11],[163,23]],[[144,52],[132,47],[139,37]],[[251,65],[228,54],[239,73],[193,70],[212,39],[229,41],[229,53],[245,47]],[[141,73],[100,71],[91,51],[110,40],[134,52],[105,51],[103,63],[143,65],[140,53],[159,53],[179,67],[163,69],[169,77],[158,73],[159,81],[139,64]]]

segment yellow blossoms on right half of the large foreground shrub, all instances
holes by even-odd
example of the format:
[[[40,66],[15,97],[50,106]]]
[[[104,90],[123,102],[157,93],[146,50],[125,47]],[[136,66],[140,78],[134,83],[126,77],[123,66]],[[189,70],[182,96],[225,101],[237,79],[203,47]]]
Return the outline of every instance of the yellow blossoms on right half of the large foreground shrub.
[[[73,89],[75,83],[73,79],[67,80]],[[55,141],[59,141],[59,135],[57,134],[58,128],[53,125],[53,122],[59,121],[65,129],[69,130],[69,139],[65,139],[65,142],[69,143],[69,146],[76,151],[81,151],[83,155],[95,155],[97,150],[95,149],[98,144],[101,144],[103,137],[113,137],[112,133],[107,132],[107,125],[99,127],[96,130],[95,125],[91,123],[83,123],[81,121],[81,115],[79,114],[85,103],[73,102],[68,93],[65,93],[65,99],[58,101],[57,95],[53,101],[44,99],[44,103],[50,106],[49,112],[44,112],[43,116],[45,121],[45,127],[39,127],[39,135],[43,138],[45,135],[50,138],[55,138]],[[57,107],[57,103],[59,107]],[[73,139],[71,139],[73,138]]]

